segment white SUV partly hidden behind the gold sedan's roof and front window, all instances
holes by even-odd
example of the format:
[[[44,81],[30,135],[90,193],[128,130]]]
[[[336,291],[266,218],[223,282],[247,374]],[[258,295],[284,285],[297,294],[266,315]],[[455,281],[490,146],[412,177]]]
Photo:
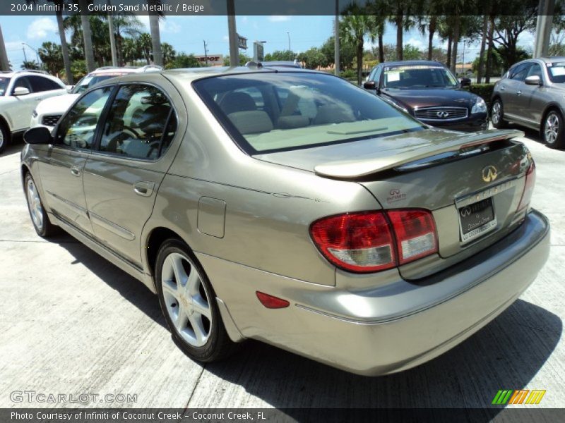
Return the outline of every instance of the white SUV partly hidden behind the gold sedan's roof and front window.
[[[40,104],[37,104],[37,107],[35,107],[31,115],[30,128],[43,125],[47,126],[49,130],[52,130],[61,116],[63,116],[64,112],[69,109],[71,104],[73,104],[78,98],[78,95],[88,90],[88,88],[93,87],[98,82],[102,82],[110,78],[116,78],[117,76],[128,75],[129,73],[157,71],[162,71],[162,68],[155,65],[143,66],[141,68],[116,68],[113,66],[97,68],[95,71],[90,72],[88,75],[85,75],[81,80],[79,80],[69,94],[57,97],[57,99],[47,99],[40,102]]]

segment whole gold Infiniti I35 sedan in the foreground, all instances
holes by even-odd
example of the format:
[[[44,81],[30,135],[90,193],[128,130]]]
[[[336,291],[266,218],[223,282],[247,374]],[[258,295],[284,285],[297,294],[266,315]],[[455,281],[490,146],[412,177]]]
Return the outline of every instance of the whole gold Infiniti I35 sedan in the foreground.
[[[514,130],[423,125],[332,75],[124,76],[25,134],[30,216],[157,293],[201,362],[254,338],[357,374],[494,319],[549,252]]]

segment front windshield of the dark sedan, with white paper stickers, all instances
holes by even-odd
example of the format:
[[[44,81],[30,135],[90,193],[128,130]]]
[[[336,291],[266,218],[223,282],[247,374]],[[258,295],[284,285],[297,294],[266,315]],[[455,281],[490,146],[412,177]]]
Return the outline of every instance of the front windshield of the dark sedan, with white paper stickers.
[[[453,73],[444,66],[385,66],[384,88],[458,87]]]

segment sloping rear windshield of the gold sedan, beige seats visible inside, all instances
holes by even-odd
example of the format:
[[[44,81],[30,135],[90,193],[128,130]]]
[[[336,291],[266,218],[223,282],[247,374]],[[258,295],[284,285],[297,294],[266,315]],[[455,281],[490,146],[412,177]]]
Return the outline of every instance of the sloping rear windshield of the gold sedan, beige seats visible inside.
[[[248,154],[316,147],[424,128],[374,94],[332,75],[251,73],[194,89]]]

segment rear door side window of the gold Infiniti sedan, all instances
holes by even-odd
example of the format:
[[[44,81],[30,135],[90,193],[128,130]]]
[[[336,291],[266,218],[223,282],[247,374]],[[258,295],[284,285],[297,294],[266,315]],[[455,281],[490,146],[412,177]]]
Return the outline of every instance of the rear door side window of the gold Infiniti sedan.
[[[100,151],[135,159],[157,159],[169,147],[177,130],[172,112],[169,99],[157,88],[124,85],[110,108]]]

